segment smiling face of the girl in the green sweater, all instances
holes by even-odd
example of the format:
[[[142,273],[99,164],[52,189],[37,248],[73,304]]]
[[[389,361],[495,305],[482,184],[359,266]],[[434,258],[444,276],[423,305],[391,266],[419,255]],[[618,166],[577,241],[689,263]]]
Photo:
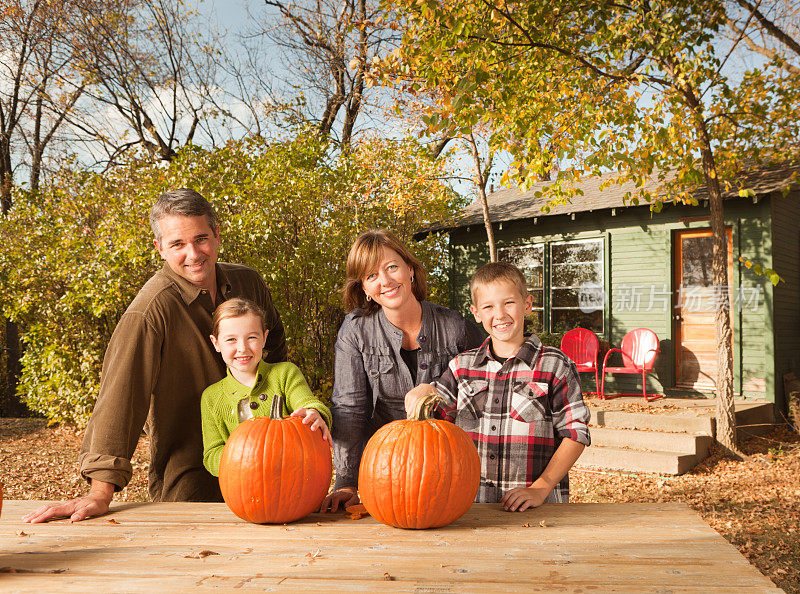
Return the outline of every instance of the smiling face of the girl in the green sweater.
[[[234,375],[252,375],[261,361],[267,332],[261,329],[261,318],[248,313],[220,321],[219,332],[211,335],[211,342]]]

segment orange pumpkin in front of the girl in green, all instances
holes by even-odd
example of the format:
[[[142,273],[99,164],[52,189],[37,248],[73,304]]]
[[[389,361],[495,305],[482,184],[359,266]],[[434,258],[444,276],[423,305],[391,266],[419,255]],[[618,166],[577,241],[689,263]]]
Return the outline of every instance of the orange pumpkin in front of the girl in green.
[[[243,520],[280,524],[318,509],[332,472],[321,431],[311,431],[300,417],[257,417],[231,432],[219,462],[219,486]]]

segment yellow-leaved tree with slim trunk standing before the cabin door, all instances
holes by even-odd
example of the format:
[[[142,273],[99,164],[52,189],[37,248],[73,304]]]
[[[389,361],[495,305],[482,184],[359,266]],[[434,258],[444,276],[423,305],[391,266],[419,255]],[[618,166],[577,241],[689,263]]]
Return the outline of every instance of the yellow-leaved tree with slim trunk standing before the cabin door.
[[[438,89],[453,109],[433,111],[433,132],[487,118],[498,146],[516,155],[524,188],[554,161],[567,163],[546,192],[568,199],[585,175],[607,170],[640,188],[627,198],[692,202],[705,186],[713,233],[717,433],[738,450],[722,188],[797,135],[797,94],[770,64],[728,70],[736,40],[719,34],[726,13],[711,0],[629,3],[395,0],[407,23],[387,67]],[[741,81],[741,83],[737,83]],[[757,88],[757,93],[752,93]],[[543,150],[544,148],[544,150]],[[657,193],[642,189],[660,182]]]

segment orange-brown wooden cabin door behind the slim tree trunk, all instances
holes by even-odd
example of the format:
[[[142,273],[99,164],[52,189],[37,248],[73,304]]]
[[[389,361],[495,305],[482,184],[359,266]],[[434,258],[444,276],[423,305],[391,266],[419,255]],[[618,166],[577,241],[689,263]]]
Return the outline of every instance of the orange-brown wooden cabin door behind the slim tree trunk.
[[[727,229],[728,285],[733,280],[733,243]],[[720,292],[711,272],[711,229],[675,234],[675,366],[676,385],[713,390],[717,379],[714,310]],[[730,299],[733,291],[729,289]],[[733,327],[733,321],[731,321]]]

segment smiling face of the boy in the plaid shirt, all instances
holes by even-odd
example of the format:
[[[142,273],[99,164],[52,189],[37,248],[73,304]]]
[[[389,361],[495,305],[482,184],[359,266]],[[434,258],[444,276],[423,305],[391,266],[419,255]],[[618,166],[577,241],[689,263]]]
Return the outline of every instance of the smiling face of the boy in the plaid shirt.
[[[500,279],[476,286],[470,309],[493,343],[519,346],[524,340],[525,316],[531,313],[532,307],[531,295],[522,295],[514,283]]]

